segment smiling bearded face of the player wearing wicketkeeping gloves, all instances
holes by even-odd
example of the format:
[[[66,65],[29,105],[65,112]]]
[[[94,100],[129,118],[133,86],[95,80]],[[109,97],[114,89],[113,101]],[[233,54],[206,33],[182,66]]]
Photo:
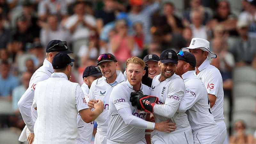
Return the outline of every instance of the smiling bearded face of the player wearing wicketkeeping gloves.
[[[160,81],[164,81],[165,79],[171,77],[177,68],[177,64],[172,62],[161,63],[158,61],[158,66],[161,69],[161,78]]]

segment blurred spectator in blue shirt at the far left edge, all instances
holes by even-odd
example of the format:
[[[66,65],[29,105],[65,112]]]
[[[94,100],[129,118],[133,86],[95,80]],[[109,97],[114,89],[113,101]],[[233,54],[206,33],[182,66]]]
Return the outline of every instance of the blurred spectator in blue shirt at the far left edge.
[[[10,74],[10,65],[2,61],[0,65],[0,99],[12,100],[12,90],[19,85],[19,79]]]

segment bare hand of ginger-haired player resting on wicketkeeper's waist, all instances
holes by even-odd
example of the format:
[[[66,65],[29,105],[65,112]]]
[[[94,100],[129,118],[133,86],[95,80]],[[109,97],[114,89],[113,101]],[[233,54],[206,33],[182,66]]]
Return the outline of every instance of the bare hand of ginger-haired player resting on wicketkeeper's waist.
[[[170,133],[172,131],[175,131],[175,129],[176,129],[175,125],[176,125],[175,123],[170,123],[170,121],[167,120],[167,121],[163,121],[160,123],[155,123],[154,130]]]

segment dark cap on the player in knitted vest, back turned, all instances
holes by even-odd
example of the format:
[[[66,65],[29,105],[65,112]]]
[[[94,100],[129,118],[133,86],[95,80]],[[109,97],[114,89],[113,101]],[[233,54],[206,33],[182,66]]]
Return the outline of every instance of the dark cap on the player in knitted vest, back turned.
[[[73,66],[75,60],[71,59],[66,53],[57,53],[52,59],[53,69],[65,68],[67,65]]]

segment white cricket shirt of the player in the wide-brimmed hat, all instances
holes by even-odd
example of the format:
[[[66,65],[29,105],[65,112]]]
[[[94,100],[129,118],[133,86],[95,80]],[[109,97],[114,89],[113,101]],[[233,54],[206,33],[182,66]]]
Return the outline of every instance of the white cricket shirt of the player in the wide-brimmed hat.
[[[200,71],[197,74],[197,77],[202,80],[206,90],[209,94],[215,95],[216,101],[213,107],[211,108],[212,115],[214,117],[214,121],[224,119],[223,116],[223,84],[222,77],[218,68],[210,65],[210,61],[208,59],[204,60],[204,62],[198,67]],[[196,75],[196,72],[195,72]]]

